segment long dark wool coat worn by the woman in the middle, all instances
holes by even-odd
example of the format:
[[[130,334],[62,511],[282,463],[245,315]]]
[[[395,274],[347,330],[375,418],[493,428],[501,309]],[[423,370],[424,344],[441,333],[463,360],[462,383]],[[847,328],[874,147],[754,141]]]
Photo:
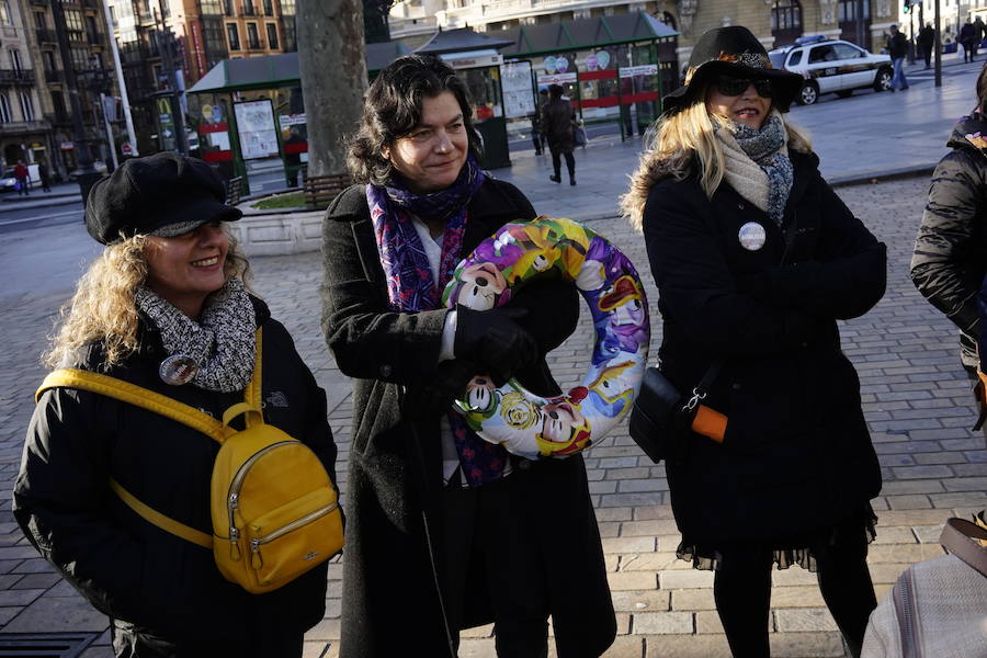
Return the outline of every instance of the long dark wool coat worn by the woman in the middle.
[[[513,185],[490,179],[468,213],[463,257],[502,225],[535,216]],[[416,421],[412,433],[401,399],[405,389],[435,377],[446,310],[390,310],[364,185],[345,190],[330,205],[322,252],[322,330],[340,370],[353,377],[340,655],[444,656],[422,524],[424,509],[433,541],[441,536],[433,513],[442,486],[439,417]],[[511,304],[527,308],[523,325],[543,354],[578,320],[570,284],[533,282]],[[518,378],[538,395],[558,393],[544,358]],[[559,653],[599,656],[613,640],[615,621],[582,457],[538,462],[531,473],[538,476],[532,506],[544,510],[537,543]],[[492,621],[484,592],[468,594],[465,625]]]

